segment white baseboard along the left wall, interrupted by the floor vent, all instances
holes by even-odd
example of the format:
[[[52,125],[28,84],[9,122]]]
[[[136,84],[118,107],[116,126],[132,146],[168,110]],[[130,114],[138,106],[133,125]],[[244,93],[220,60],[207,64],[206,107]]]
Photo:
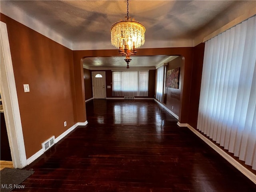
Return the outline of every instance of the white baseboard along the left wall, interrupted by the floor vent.
[[[57,142],[59,142],[60,140],[62,140],[62,138],[64,138],[67,134],[69,134],[72,130],[74,130],[77,126],[84,126],[88,124],[88,122],[78,122],[76,124],[74,124],[72,127],[70,127],[68,130],[66,130],[65,132],[63,132],[60,136],[58,136],[57,138],[55,138],[55,144]],[[36,160],[38,157],[40,157],[42,154],[44,154],[44,150],[40,149],[38,152],[36,152],[34,155],[32,155],[30,158],[27,159],[27,165],[29,165],[30,163],[32,163],[34,160]]]

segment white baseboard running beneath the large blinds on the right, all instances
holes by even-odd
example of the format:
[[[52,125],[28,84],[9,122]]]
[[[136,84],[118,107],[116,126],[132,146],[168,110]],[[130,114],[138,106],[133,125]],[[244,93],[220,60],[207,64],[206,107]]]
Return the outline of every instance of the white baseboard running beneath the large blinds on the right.
[[[202,134],[200,134],[196,129],[194,129],[192,126],[190,126],[187,123],[179,123],[178,126],[182,125],[182,127],[189,128],[196,136],[198,136],[200,139],[202,139],[206,144],[208,144],[212,149],[214,149],[218,154],[220,154],[224,159],[226,159],[230,164],[232,164],[235,168],[237,168],[242,174],[244,174],[247,178],[249,178],[254,184],[256,184],[256,175],[250,172],[250,170],[246,169],[242,164],[240,164],[238,161],[236,161],[232,156],[227,154],[224,150],[222,150],[219,146],[214,144],[210,139],[206,138]]]

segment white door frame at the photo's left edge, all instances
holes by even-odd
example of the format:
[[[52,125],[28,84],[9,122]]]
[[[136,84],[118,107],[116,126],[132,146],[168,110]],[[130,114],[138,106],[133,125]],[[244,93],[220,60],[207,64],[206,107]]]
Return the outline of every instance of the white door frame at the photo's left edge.
[[[20,119],[20,108],[18,104],[18,96],[12,67],[12,57],[10,52],[7,26],[4,22],[0,22],[0,36],[0,86],[7,135],[14,168],[24,168],[27,166],[26,151]]]

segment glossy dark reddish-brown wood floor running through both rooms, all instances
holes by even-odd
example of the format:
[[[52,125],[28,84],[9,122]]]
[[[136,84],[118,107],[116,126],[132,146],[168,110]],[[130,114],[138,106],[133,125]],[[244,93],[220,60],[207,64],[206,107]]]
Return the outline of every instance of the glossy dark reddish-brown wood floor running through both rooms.
[[[27,169],[32,192],[255,192],[152,100],[92,100],[80,126]]]

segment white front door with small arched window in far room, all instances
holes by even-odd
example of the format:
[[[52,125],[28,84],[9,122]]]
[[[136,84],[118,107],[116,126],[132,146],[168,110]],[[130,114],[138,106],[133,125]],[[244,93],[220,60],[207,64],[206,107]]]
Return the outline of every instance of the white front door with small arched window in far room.
[[[95,99],[106,98],[105,72],[92,72],[93,97]]]

